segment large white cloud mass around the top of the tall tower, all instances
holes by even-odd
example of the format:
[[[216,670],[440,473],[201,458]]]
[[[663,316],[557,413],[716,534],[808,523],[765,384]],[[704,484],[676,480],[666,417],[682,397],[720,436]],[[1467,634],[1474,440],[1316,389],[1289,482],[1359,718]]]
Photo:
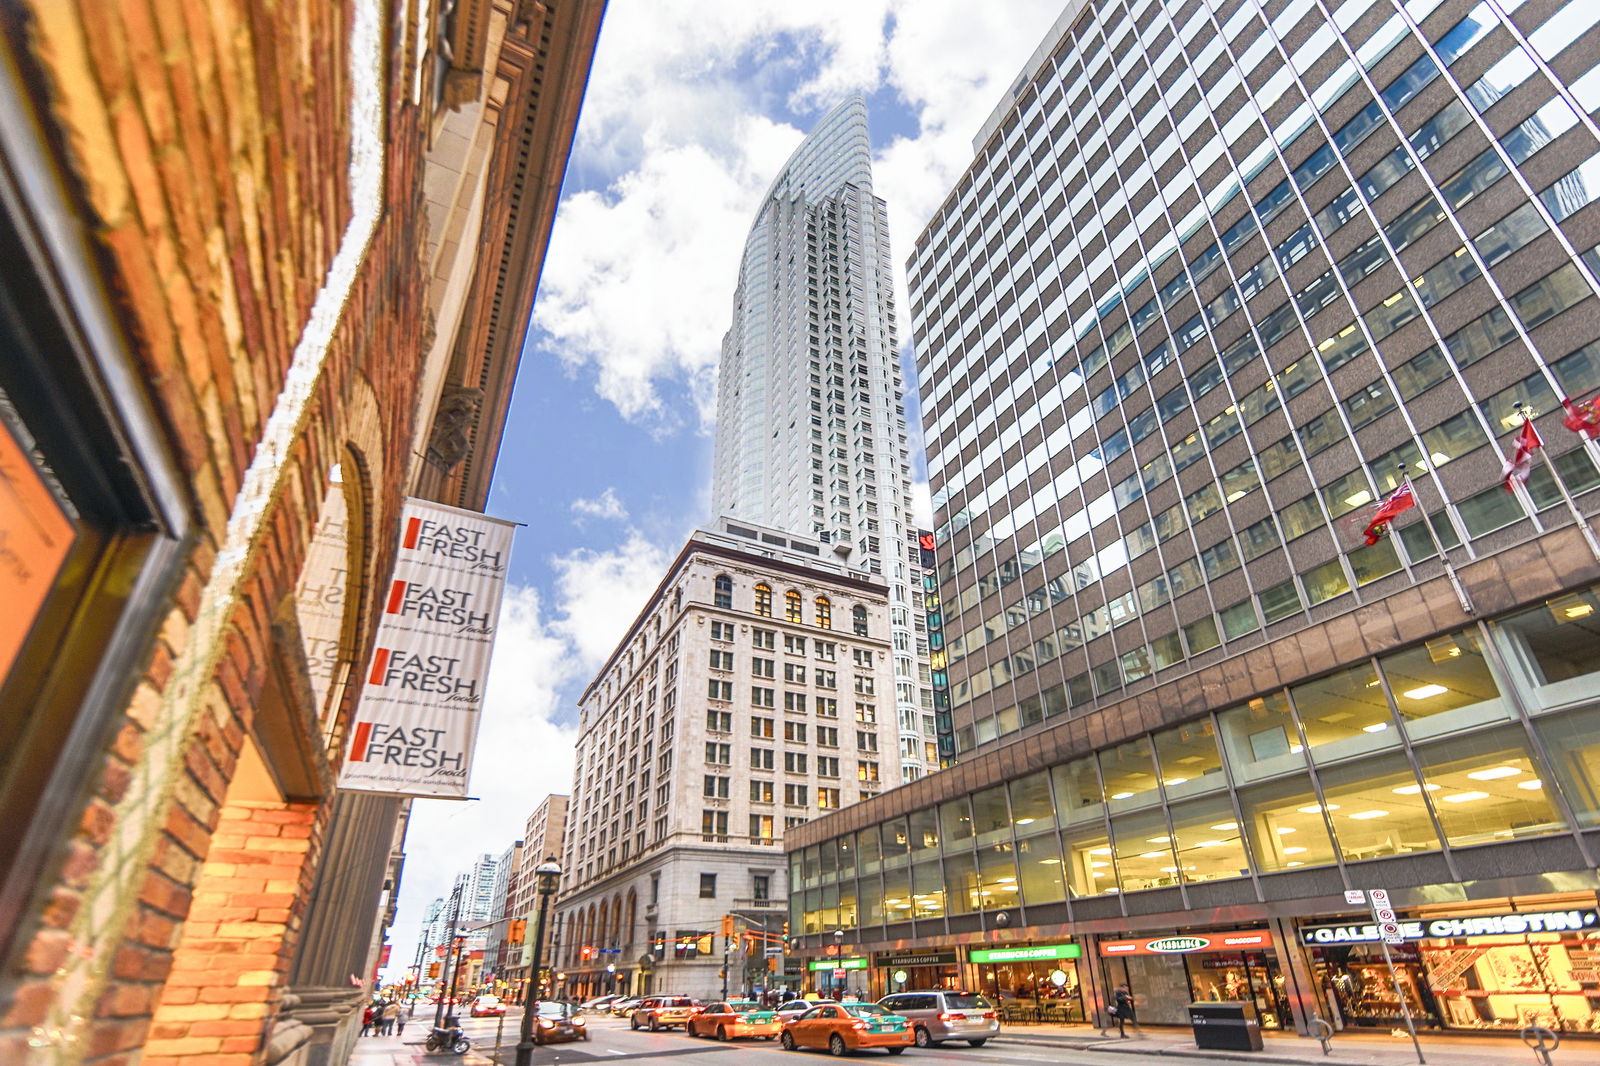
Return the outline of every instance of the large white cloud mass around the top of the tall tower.
[[[819,117],[850,91],[901,96],[918,133],[880,154],[874,179],[899,275],[971,160],[971,136],[1059,11],[1061,0],[613,5],[573,158],[597,187],[570,194],[557,216],[534,307],[544,343],[570,373],[594,373],[624,418],[704,429],[744,237],[805,133],[771,118],[778,106]],[[670,408],[667,383],[693,411]]]

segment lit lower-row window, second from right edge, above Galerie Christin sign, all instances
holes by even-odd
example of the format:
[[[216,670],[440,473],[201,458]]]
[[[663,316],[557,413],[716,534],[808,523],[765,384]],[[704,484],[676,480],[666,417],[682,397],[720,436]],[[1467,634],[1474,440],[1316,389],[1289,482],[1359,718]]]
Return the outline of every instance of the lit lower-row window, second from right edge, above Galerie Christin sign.
[[[1520,727],[1501,727],[1416,749],[1427,799],[1451,845],[1563,832],[1544,773]]]

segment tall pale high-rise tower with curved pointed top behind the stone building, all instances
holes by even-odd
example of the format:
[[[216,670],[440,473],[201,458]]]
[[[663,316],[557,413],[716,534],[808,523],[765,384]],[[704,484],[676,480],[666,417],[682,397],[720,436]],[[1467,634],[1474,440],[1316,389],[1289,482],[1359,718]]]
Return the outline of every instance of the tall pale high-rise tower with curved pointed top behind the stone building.
[[[717,387],[718,515],[816,538],[890,587],[902,775],[938,765],[886,208],[867,106],[818,123],[744,243]]]

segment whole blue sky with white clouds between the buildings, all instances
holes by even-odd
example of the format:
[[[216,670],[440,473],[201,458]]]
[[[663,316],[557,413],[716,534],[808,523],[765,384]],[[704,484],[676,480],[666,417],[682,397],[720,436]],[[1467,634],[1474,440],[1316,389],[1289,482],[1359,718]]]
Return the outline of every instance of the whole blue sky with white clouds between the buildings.
[[[773,174],[842,94],[864,93],[902,271],[1061,8],[611,0],[490,491],[491,514],[526,527],[486,690],[480,799],[416,804],[395,975],[427,901],[568,791],[578,696],[710,517],[717,359]],[[909,351],[904,362],[912,381]]]

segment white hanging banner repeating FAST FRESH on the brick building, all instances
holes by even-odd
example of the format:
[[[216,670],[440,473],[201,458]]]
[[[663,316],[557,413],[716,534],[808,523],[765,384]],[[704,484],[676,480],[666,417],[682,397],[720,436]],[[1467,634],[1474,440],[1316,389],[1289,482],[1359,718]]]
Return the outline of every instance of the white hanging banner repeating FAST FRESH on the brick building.
[[[405,501],[339,787],[466,799],[514,528]]]

